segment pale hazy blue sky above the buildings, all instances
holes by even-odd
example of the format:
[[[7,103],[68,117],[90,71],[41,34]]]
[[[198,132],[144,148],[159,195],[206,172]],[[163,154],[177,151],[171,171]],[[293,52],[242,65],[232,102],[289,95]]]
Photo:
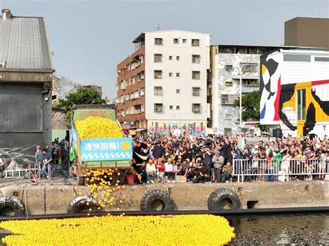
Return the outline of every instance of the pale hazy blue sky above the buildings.
[[[210,33],[212,44],[284,44],[285,21],[329,17],[329,0],[27,1],[0,0],[12,15],[46,17],[56,74],[117,94],[117,64],[143,31]]]

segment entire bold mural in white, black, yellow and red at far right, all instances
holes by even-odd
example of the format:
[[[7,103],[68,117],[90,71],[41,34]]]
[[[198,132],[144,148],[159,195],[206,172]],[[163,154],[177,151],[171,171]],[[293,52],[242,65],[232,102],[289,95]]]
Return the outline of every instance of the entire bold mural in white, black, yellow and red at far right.
[[[307,134],[326,134],[329,128],[329,80],[291,81],[281,84],[280,53],[262,55],[260,66],[260,123],[280,125],[282,134],[287,136],[306,136]],[[298,109],[298,91],[303,90],[305,108]],[[298,112],[304,110],[304,113]],[[297,114],[300,114],[298,119]],[[302,116],[301,116],[302,115]],[[324,127],[323,127],[324,126]]]

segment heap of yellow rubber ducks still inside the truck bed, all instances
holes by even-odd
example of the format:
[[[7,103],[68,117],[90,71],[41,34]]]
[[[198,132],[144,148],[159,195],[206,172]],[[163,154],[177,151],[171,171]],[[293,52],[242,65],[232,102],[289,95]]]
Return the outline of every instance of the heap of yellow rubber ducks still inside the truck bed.
[[[76,130],[80,139],[112,139],[123,137],[122,130],[116,121],[110,118],[89,116],[76,121]]]

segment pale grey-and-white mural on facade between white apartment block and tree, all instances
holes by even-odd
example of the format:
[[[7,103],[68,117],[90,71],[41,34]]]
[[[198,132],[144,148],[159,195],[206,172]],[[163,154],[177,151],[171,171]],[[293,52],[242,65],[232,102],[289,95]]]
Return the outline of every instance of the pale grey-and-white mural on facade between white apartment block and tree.
[[[247,80],[259,80],[259,63],[260,55],[249,55],[249,54],[230,54],[223,53],[219,54],[218,64],[218,90],[219,90],[219,116],[218,126],[219,132],[224,133],[225,129],[231,129],[232,133],[238,131],[239,123],[239,107],[234,107],[233,102],[230,105],[221,103],[221,95],[235,95],[238,99],[239,96],[239,66],[241,63],[256,64],[255,71],[244,72],[242,75],[243,79]],[[226,66],[232,66],[230,67]],[[227,85],[226,82],[231,82],[231,85]],[[258,90],[258,86],[243,86],[242,93],[250,93]]]

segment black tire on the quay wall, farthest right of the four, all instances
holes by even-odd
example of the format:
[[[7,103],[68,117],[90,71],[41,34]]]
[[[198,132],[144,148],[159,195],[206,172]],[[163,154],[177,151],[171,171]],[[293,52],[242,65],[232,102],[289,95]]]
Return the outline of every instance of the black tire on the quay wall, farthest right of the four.
[[[241,208],[241,201],[230,188],[217,188],[208,198],[208,209],[211,211],[237,210]]]

